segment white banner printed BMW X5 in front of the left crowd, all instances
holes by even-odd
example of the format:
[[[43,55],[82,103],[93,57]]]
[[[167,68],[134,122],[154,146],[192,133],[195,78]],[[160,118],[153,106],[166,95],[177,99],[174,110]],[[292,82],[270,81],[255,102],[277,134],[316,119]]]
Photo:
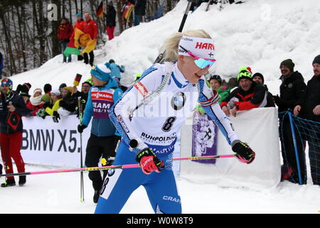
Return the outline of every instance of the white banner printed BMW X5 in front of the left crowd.
[[[54,123],[50,116],[22,118],[23,135],[21,155],[29,164],[80,167],[80,120],[76,115],[61,117]],[[82,164],[90,137],[91,124],[82,133]]]

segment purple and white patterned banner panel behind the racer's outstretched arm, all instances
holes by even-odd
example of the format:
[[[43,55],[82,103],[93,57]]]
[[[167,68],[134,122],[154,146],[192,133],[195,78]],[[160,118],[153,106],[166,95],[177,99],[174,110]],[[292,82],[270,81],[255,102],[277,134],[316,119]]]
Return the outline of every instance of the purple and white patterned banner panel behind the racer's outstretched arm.
[[[192,156],[217,155],[217,126],[206,114],[195,112],[192,127]],[[215,159],[193,160],[215,164]]]

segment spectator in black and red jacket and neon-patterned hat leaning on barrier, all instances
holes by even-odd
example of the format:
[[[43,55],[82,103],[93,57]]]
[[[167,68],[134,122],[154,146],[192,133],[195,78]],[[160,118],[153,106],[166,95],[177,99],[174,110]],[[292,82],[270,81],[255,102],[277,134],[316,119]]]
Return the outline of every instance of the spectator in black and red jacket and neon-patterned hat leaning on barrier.
[[[265,86],[252,81],[252,76],[248,68],[241,67],[238,74],[238,88],[235,88],[228,98],[220,103],[225,115],[234,117],[240,110],[250,110],[252,108],[262,108],[267,105],[267,90]]]

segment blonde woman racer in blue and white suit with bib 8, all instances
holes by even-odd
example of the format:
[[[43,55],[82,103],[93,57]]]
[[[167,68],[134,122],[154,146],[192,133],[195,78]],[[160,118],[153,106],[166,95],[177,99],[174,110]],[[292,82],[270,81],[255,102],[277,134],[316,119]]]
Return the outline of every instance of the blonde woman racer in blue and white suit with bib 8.
[[[113,165],[139,162],[140,168],[110,170],[95,213],[119,213],[141,185],[154,212],[181,213],[172,158],[177,132],[198,101],[237,158],[247,164],[255,159],[255,152],[239,140],[221,110],[218,93],[206,86],[204,75],[215,63],[210,35],[203,30],[174,33],[165,48],[164,64],[156,63],[144,71],[110,109],[110,119],[122,136]]]

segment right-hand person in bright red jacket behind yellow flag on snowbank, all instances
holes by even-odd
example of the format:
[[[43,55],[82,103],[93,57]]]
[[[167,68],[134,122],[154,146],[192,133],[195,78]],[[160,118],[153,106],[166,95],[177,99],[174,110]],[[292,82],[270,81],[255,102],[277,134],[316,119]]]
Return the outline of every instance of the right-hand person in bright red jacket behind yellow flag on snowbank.
[[[82,31],[84,33],[88,33],[90,35],[90,38],[92,38],[92,40],[95,40],[95,41],[97,40],[97,33],[98,33],[97,24],[95,23],[95,21],[92,21],[89,13],[85,13],[85,22],[83,23]],[[90,59],[89,59],[89,56],[90,56]],[[83,54],[83,58],[85,58],[85,64],[90,63],[90,65],[93,66],[93,61],[95,58],[93,51],[89,53],[89,56],[87,53]]]

